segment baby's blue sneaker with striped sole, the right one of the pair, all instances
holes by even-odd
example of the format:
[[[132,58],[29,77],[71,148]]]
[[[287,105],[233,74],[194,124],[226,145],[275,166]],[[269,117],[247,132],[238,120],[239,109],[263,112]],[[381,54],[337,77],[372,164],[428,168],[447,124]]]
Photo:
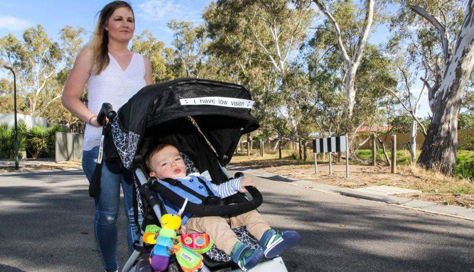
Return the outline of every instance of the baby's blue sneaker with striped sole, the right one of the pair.
[[[262,246],[265,257],[271,259],[294,246],[300,241],[300,238],[300,234],[295,231],[277,232],[270,229],[263,234],[259,243]]]

